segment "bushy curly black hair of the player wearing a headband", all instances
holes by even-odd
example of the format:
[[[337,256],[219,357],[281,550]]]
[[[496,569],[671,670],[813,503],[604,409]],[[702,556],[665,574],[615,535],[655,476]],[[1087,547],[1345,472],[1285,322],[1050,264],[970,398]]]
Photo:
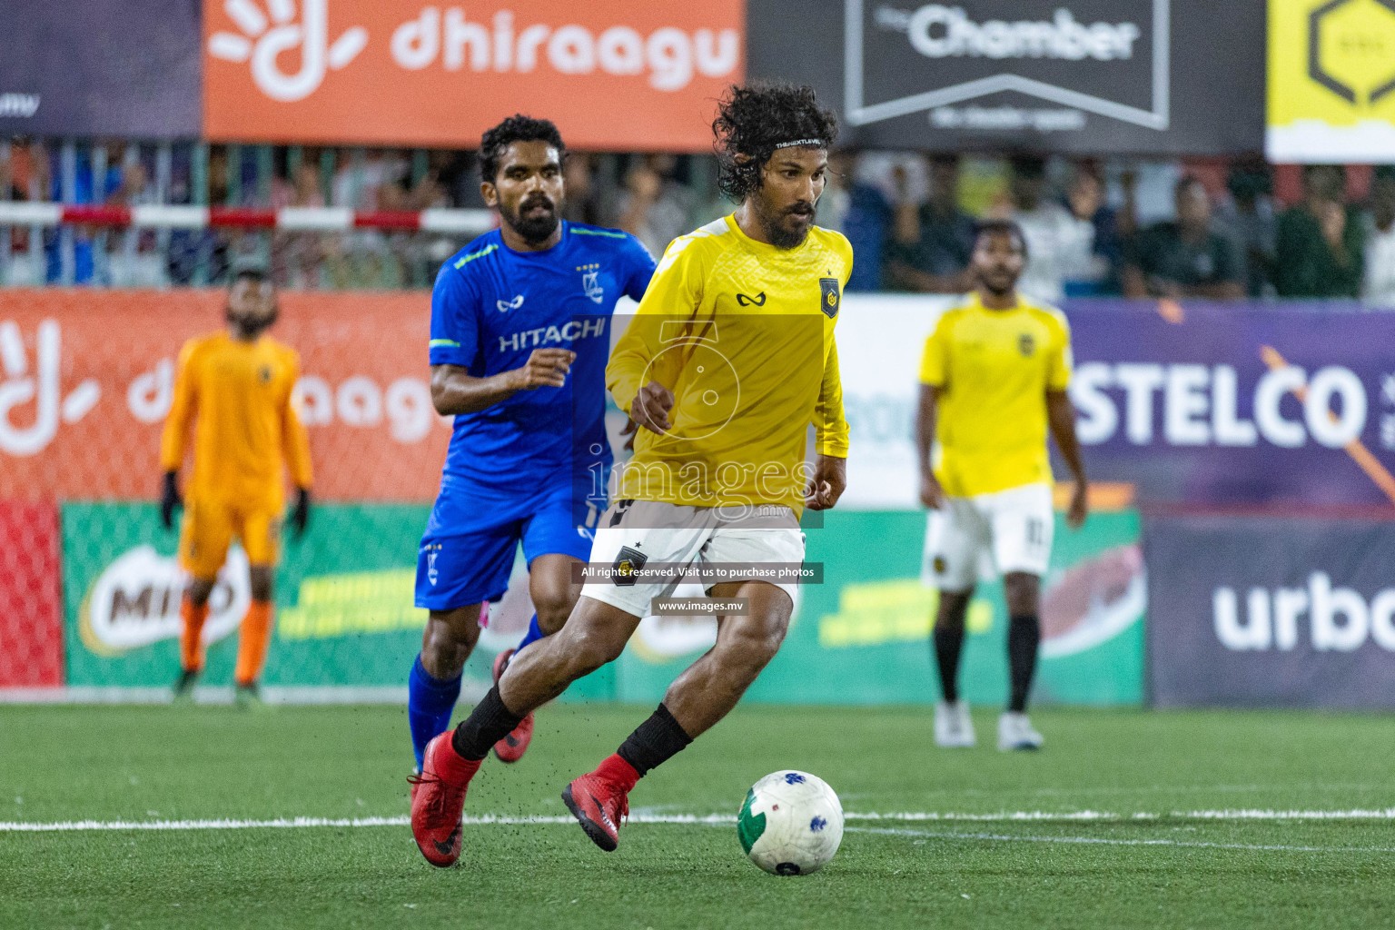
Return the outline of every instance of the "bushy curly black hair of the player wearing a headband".
[[[838,120],[819,109],[810,86],[753,82],[723,95],[711,132],[717,137],[717,185],[741,201],[760,187],[760,169],[777,148],[791,142],[830,148],[838,138]]]

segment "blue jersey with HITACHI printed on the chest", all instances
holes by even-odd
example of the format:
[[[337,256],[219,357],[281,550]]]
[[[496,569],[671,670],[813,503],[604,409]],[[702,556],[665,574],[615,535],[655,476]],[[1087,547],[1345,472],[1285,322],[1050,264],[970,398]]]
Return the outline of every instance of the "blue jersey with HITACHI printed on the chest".
[[[442,498],[469,485],[536,489],[544,480],[568,480],[561,473],[610,466],[611,314],[622,294],[643,297],[653,272],[654,259],[629,233],[568,222],[547,251],[513,251],[494,230],[441,268],[431,294],[432,365],[484,378],[522,367],[536,349],[576,353],[561,388],[520,390],[456,416]]]

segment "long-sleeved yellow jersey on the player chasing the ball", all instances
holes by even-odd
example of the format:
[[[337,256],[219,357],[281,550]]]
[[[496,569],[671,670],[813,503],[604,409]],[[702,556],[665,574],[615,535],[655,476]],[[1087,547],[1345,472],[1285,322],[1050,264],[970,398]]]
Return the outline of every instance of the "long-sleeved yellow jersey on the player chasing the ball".
[[[668,388],[672,429],[639,431],[615,496],[799,513],[809,425],[820,453],[848,455],[833,329],[851,272],[848,240],[817,226],[791,250],[734,215],[674,240],[605,368],[625,411]]]

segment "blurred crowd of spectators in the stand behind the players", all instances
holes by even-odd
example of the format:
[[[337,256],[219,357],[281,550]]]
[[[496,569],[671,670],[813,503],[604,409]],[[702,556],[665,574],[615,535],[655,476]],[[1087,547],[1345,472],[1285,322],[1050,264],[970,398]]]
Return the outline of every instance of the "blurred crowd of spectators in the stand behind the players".
[[[572,153],[566,218],[656,255],[731,209],[707,156]],[[480,208],[469,152],[0,144],[0,199],[356,211]],[[1282,190],[1281,190],[1282,188]],[[979,219],[1011,219],[1024,291],[1324,298],[1395,308],[1395,167],[1098,162],[840,149],[819,223],[852,241],[850,290],[963,293]],[[3,233],[3,230],[0,230]],[[0,234],[4,283],[218,283],[240,262],[287,287],[425,287],[463,238],[405,231],[102,230]]]

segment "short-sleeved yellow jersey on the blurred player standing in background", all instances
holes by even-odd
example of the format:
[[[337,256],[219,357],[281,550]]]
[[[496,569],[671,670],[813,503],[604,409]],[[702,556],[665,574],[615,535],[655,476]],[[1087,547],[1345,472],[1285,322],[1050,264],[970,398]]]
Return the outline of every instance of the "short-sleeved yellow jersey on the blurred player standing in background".
[[[1049,482],[1046,392],[1070,383],[1070,325],[1021,294],[988,310],[972,294],[925,340],[921,383],[940,388],[935,477],[956,498]]]

